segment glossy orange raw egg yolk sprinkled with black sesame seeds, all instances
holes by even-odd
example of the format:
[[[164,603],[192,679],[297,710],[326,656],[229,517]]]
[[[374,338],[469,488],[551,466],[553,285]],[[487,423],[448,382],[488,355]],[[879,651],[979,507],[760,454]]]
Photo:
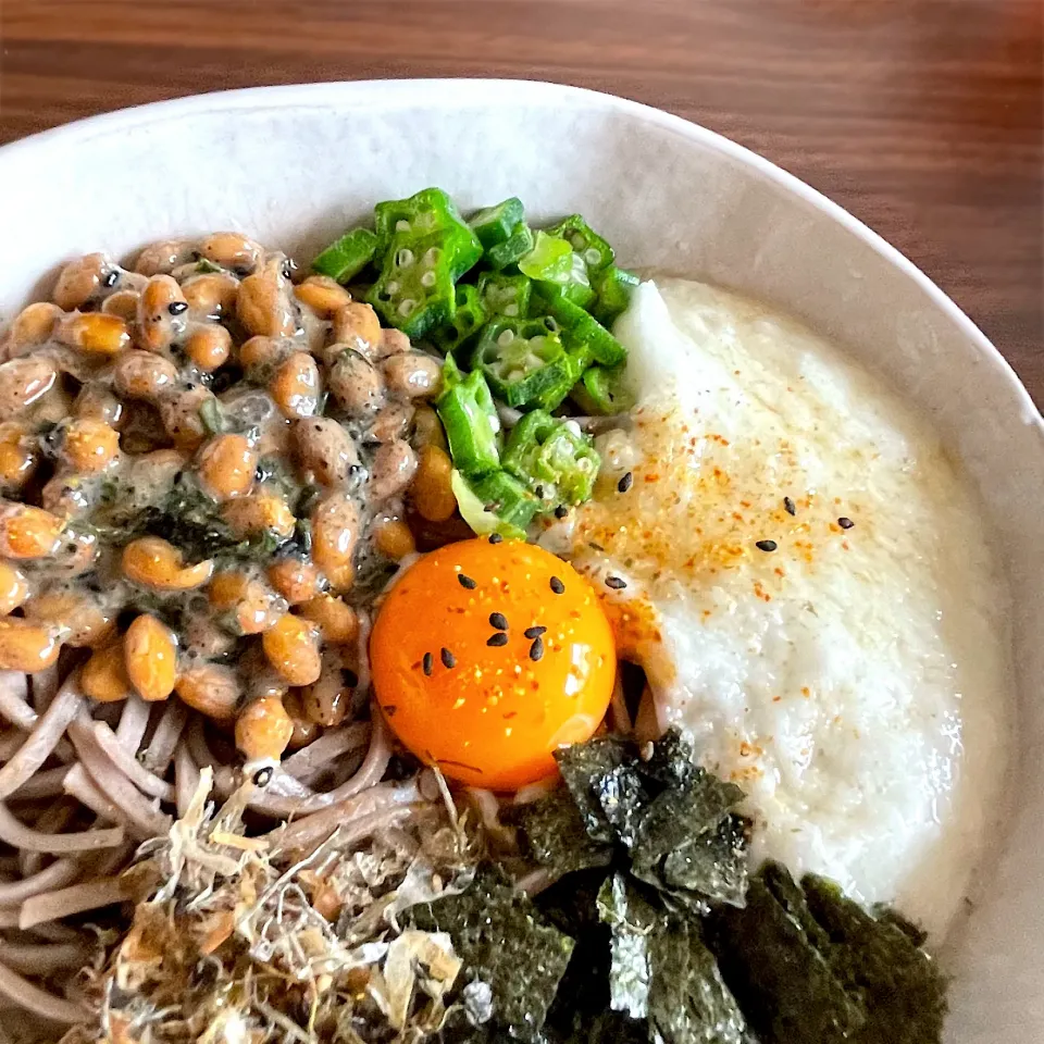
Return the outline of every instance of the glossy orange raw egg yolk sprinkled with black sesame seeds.
[[[447,776],[512,791],[605,717],[617,657],[591,585],[532,544],[450,544],[388,593],[370,639],[377,703]]]

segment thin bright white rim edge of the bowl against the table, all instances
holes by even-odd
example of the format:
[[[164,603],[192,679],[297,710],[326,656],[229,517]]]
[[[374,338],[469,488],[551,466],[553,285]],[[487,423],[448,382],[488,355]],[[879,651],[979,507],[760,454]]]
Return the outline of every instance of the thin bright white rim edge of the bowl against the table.
[[[232,112],[241,109],[256,111],[315,109],[330,107],[334,102],[366,104],[373,110],[382,105],[400,107],[407,100],[414,105],[440,108],[448,102],[474,104],[476,96],[481,98],[481,104],[484,107],[504,102],[545,104],[556,102],[570,109],[614,110],[620,114],[659,126],[671,134],[753,167],[766,179],[833,219],[893,268],[912,279],[928,296],[931,303],[952,320],[978,351],[1006,376],[1010,389],[1015,393],[1017,405],[1021,408],[1022,422],[1044,432],[1044,415],[1011,363],[944,290],[883,236],[850,214],[840,203],[753,149],[738,145],[731,138],[686,120],[684,116],[606,91],[538,79],[481,76],[323,80],[206,91],[98,113],[10,141],[0,146],[0,174],[8,161],[24,153],[47,152],[51,149],[64,150],[113,133],[128,132],[145,125],[181,120],[196,114]]]

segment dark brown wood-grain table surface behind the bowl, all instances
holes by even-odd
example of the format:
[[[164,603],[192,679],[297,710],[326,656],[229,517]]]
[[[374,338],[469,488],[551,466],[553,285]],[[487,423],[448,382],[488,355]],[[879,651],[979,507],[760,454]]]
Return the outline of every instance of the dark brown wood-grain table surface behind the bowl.
[[[0,142],[258,84],[612,91],[749,146],[862,219],[1044,403],[1042,14],[1040,0],[0,0]]]

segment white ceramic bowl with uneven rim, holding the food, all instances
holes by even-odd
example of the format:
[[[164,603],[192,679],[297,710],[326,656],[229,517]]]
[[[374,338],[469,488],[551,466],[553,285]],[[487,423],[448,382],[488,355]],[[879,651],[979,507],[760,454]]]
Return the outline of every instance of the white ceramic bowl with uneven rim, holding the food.
[[[0,320],[90,250],[249,232],[308,259],[380,199],[581,211],[631,268],[794,312],[930,414],[978,484],[1011,580],[1014,815],[955,946],[948,1037],[1044,1040],[1044,422],[997,351],[909,261],[716,134],[548,84],[405,80],[203,95],[0,150]],[[999,623],[999,621],[998,621]],[[1034,1029],[1035,1027],[1035,1029]]]

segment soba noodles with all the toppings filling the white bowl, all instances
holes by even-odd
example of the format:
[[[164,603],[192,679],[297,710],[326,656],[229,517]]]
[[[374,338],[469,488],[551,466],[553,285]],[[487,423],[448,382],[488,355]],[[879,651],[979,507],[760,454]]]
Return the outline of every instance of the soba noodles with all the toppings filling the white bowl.
[[[1016,625],[945,418],[431,170],[3,302],[0,1040],[957,1040]]]

